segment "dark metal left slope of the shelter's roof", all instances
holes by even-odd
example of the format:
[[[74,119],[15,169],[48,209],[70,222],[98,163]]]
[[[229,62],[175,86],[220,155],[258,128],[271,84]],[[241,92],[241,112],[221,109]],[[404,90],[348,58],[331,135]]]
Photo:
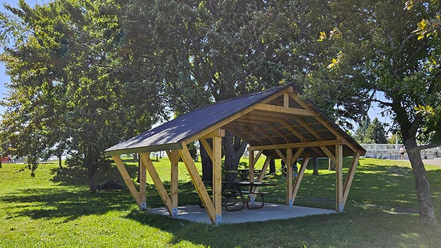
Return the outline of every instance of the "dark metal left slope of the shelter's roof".
[[[180,149],[181,142],[187,138],[206,130],[212,125],[216,125],[216,123],[223,121],[225,118],[247,109],[247,107],[286,87],[289,87],[289,85],[274,87],[262,92],[239,96],[235,99],[198,108],[152,130],[143,132],[134,138],[130,138],[128,141],[107,148],[105,152],[107,154],[128,154]]]

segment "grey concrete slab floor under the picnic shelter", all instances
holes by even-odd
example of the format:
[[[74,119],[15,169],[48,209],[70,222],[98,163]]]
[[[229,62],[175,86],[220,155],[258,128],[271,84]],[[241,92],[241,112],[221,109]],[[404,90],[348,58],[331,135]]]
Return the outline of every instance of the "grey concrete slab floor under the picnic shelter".
[[[152,213],[162,214],[165,216],[170,216],[165,207],[147,209]],[[318,214],[336,214],[335,210],[330,209],[317,209],[314,207],[300,207],[293,206],[289,207],[287,205],[280,205],[275,203],[265,203],[265,207],[261,209],[247,209],[246,207],[242,211],[227,211],[222,209],[222,224],[232,224],[232,223],[247,223],[254,221],[265,221],[265,220],[278,220],[287,218],[296,218],[309,215]],[[211,224],[207,212],[205,209],[199,206],[185,206],[178,207],[178,216],[170,216],[170,218],[177,218],[181,220],[189,220],[198,223]]]

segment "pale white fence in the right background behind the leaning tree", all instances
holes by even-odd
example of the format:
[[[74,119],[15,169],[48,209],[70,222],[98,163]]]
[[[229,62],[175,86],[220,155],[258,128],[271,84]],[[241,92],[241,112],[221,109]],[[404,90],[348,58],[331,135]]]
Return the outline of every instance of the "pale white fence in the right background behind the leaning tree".
[[[361,144],[366,149],[366,157],[368,158],[387,158],[387,159],[400,159],[398,149],[400,144]],[[422,159],[441,158],[441,147],[435,147],[431,149],[424,149],[420,151]],[[407,159],[407,154],[404,154],[404,158]]]

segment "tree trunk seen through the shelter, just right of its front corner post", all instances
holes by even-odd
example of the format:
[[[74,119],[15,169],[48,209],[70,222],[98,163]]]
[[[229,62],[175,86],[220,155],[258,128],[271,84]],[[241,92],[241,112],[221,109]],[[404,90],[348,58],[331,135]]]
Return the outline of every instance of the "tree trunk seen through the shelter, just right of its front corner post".
[[[224,172],[226,181],[234,181],[237,179],[237,169],[240,157],[242,157],[247,143],[241,140],[232,132],[225,130],[225,138],[223,138],[223,147],[225,152]]]

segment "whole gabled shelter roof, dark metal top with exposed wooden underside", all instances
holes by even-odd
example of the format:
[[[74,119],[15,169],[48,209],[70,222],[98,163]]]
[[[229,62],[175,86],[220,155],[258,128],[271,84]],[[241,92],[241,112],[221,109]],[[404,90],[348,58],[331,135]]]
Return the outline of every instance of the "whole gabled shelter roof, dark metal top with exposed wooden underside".
[[[311,101],[298,99],[297,93],[294,85],[283,85],[207,105],[114,145],[105,152],[114,155],[181,149],[183,143],[222,128],[240,136],[251,146],[344,138],[349,145],[344,146],[344,156],[352,156],[354,147],[365,154],[365,149],[353,138]],[[334,151],[333,145],[329,145],[329,150]],[[305,152],[311,157],[327,156],[314,147],[308,147]],[[274,151],[265,151],[264,154],[278,157]]]

